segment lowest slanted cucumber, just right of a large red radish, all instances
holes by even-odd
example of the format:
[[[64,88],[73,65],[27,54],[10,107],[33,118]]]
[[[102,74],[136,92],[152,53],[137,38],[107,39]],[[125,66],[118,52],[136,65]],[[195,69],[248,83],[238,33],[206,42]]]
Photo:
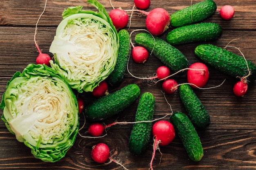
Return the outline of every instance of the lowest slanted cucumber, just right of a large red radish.
[[[198,133],[189,117],[182,112],[175,112],[171,115],[170,122],[180,137],[189,158],[195,162],[200,161],[204,156],[204,150]]]

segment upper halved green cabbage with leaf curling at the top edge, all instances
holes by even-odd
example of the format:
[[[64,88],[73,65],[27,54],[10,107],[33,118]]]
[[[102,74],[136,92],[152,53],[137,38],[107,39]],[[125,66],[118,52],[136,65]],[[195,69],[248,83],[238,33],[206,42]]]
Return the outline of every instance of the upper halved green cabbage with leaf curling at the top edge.
[[[82,6],[68,7],[49,51],[54,54],[51,66],[71,88],[92,91],[114,70],[119,37],[103,5],[88,3],[99,11],[86,11]]]

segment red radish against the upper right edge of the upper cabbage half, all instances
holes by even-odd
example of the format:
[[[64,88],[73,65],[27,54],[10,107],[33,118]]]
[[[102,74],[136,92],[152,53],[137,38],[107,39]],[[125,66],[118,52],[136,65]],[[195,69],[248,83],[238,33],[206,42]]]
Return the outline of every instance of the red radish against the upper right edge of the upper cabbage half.
[[[129,20],[127,12],[121,8],[112,9],[109,13],[109,17],[111,18],[116,29],[124,28]]]

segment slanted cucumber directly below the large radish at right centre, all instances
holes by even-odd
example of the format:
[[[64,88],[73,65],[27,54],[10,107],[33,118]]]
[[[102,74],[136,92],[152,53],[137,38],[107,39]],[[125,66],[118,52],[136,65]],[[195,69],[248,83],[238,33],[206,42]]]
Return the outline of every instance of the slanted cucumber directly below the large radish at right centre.
[[[191,122],[200,129],[204,129],[209,126],[210,116],[189,84],[180,85],[179,90],[180,99],[189,118],[191,119]]]

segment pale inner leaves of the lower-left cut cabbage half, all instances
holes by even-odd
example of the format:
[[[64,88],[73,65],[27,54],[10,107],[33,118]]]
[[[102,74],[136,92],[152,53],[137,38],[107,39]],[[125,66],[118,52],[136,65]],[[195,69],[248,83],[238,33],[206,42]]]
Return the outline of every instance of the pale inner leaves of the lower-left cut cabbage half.
[[[9,122],[16,137],[29,138],[25,140],[33,146],[38,140],[41,144],[61,141],[74,124],[72,110],[76,107],[67,85],[58,78],[37,77],[28,79],[17,90],[12,105],[16,114]]]

